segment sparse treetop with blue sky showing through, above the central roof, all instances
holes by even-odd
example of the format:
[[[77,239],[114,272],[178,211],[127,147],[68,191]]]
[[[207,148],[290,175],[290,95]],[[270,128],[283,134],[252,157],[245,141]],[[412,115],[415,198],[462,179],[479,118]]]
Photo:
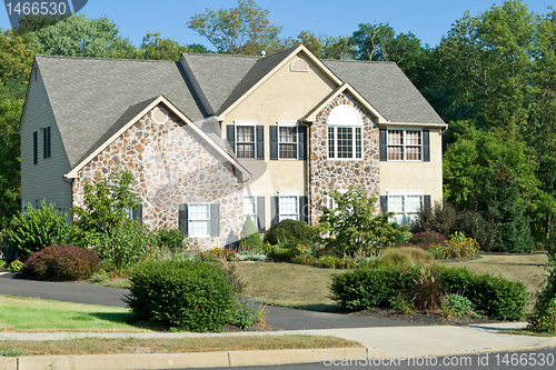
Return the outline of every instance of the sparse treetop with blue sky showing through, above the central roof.
[[[254,0],[238,0],[232,9],[207,9],[187,22],[188,27],[206,37],[218,52],[255,56],[276,41],[280,27],[270,24],[268,10]]]

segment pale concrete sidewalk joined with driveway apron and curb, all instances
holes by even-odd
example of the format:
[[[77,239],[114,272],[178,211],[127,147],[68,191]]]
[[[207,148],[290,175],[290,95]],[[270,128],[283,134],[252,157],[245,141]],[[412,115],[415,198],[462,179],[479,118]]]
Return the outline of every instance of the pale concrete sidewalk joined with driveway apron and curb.
[[[365,357],[440,357],[487,352],[515,352],[556,348],[556,338],[498,333],[525,323],[481,326],[434,326],[347,328],[229,333],[18,333],[0,332],[0,340],[64,340],[72,338],[200,338],[242,336],[331,336],[357,341],[360,348],[275,351],[224,351],[202,353],[135,353],[102,356],[49,356],[0,358],[0,369],[88,370],[88,369],[180,369],[322,362],[330,359]]]

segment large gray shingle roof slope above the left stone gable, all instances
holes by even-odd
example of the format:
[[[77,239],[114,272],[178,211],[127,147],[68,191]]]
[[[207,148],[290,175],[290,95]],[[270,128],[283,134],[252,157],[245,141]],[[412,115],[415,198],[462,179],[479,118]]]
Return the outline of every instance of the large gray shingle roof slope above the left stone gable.
[[[70,166],[78,164],[132,112],[139,112],[136,108],[140,102],[161,94],[192,121],[202,119],[178,64],[38,56],[37,66]]]

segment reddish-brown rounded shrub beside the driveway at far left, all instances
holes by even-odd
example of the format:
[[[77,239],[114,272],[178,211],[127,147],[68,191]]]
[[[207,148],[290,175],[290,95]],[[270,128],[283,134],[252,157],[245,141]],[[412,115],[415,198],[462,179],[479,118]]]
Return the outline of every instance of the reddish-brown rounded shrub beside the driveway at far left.
[[[100,258],[91,249],[50,246],[29,257],[21,272],[30,279],[73,281],[90,278],[100,270]]]

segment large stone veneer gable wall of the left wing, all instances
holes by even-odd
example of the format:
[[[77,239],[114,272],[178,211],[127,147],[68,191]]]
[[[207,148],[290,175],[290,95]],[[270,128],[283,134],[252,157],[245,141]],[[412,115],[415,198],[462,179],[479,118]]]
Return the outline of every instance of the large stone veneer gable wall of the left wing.
[[[152,120],[156,114],[156,121]],[[163,122],[162,124],[157,122]],[[220,203],[220,237],[189,238],[190,248],[224,247],[238,239],[244,190],[231,164],[178,117],[155,108],[79,171],[73,206],[82,207],[83,182],[121,162],[135,177],[149,229],[179,227],[179,204]]]

